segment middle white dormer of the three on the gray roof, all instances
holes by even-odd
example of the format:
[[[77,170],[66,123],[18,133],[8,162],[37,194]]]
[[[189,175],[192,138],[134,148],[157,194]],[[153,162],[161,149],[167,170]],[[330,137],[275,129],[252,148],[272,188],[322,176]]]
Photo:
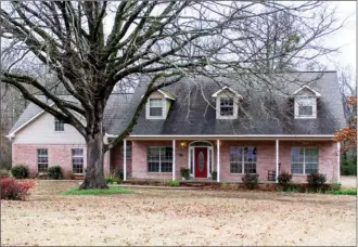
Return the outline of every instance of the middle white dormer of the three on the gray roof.
[[[225,86],[212,95],[216,98],[216,119],[236,119],[239,100],[242,96],[231,88]]]

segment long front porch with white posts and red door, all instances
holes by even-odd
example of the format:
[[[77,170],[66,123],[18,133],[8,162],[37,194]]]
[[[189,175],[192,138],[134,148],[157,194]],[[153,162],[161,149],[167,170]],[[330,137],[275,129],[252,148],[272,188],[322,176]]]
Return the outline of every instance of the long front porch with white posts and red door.
[[[130,157],[127,148],[131,150]],[[317,147],[316,164],[292,164],[292,148]],[[123,159],[112,164],[123,169],[124,180],[167,181],[184,183],[241,183],[244,173],[259,174],[259,182],[277,182],[280,172],[293,173],[294,182],[307,178],[309,166],[327,176],[328,181],[338,178],[338,144],[328,140],[135,140],[124,141]],[[114,151],[113,153],[118,153]],[[111,156],[115,154],[111,153]],[[111,159],[111,162],[114,161]],[[281,164],[281,166],[280,166]],[[292,167],[294,166],[294,167]],[[191,179],[182,181],[180,169],[190,170]],[[296,171],[302,173],[294,173]],[[217,172],[216,180],[212,172]]]

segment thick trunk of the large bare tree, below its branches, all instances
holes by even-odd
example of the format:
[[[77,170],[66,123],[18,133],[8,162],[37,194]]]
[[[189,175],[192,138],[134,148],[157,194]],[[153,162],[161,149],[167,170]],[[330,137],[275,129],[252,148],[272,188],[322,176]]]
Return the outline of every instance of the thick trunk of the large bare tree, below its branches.
[[[84,183],[79,188],[107,188],[103,171],[104,143],[103,134],[97,133],[87,141],[87,170]]]

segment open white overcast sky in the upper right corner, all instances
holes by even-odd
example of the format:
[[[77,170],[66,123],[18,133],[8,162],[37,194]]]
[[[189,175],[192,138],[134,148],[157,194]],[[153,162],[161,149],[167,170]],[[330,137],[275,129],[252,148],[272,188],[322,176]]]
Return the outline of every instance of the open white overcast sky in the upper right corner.
[[[341,21],[350,16],[345,26],[330,40],[333,46],[343,46],[343,48],[338,54],[329,57],[327,63],[329,69],[335,69],[335,64],[338,63],[342,67],[349,66],[351,73],[356,74],[356,3],[355,1],[329,2],[337,8],[336,16]]]

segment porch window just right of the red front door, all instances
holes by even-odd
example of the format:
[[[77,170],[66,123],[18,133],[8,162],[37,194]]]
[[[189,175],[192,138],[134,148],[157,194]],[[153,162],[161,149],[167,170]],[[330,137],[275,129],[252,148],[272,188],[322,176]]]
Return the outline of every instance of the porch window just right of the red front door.
[[[256,147],[230,147],[230,173],[256,173]]]

